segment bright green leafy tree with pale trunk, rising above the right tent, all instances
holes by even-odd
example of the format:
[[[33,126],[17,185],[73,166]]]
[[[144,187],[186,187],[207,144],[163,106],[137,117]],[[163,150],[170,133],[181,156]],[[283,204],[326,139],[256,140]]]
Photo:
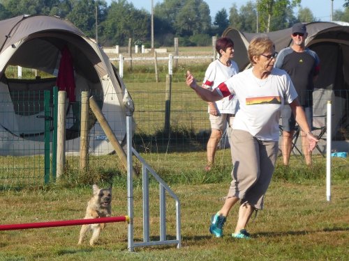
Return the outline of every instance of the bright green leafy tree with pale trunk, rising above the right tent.
[[[260,31],[269,32],[272,17],[279,17],[288,8],[294,8],[301,0],[258,0],[257,9],[260,20]]]

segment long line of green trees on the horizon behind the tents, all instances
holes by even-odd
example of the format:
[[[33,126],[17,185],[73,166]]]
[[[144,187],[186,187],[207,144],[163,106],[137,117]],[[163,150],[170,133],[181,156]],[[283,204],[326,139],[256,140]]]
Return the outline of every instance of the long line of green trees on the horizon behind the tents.
[[[309,8],[300,7],[302,0],[246,1],[237,8],[218,10],[213,21],[208,4],[203,0],[163,0],[156,3],[153,14],[138,9],[127,0],[0,0],[0,19],[17,15],[56,15],[68,19],[87,36],[103,46],[150,46],[151,19],[154,24],[154,47],[172,46],[179,38],[181,46],[211,45],[211,36],[221,35],[232,26],[244,32],[268,32],[285,29],[295,22],[315,22]],[[297,17],[294,8],[299,6]],[[349,0],[344,10],[335,10],[333,19],[349,22]]]

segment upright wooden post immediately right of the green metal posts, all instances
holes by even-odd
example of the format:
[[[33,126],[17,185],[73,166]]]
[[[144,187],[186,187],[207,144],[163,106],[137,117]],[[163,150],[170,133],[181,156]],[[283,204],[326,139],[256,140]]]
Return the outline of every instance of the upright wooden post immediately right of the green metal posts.
[[[66,91],[58,92],[57,178],[64,172],[66,162]]]

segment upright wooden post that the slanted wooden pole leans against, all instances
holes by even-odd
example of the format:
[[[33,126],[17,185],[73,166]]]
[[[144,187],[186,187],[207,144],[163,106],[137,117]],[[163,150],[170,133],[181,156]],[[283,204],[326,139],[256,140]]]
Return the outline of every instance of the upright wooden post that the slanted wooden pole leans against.
[[[81,92],[80,171],[87,171],[89,160],[89,91]]]

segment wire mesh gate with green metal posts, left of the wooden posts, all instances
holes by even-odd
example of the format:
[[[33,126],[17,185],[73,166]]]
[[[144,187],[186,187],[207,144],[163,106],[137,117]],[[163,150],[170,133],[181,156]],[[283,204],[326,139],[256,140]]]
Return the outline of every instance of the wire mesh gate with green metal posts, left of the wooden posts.
[[[55,180],[57,95],[57,87],[0,93],[0,187]]]

